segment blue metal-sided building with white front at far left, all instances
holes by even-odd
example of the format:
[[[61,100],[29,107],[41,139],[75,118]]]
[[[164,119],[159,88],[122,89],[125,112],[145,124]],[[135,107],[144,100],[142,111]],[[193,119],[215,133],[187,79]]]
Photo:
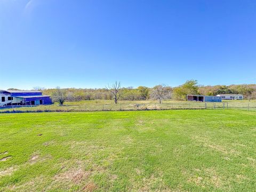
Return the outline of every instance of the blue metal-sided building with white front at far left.
[[[40,91],[0,90],[0,106],[50,104],[51,97]]]

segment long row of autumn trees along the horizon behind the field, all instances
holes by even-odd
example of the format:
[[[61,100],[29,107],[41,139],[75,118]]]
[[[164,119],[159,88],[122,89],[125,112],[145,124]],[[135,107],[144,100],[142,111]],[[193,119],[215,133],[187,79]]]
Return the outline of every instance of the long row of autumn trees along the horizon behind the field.
[[[178,87],[166,85],[156,85],[153,88],[139,86],[122,87],[120,82],[106,86],[104,89],[44,89],[34,87],[35,90],[41,90],[44,94],[51,95],[53,101],[61,105],[64,101],[81,101],[81,100],[147,100],[154,99],[162,103],[164,99],[186,100],[187,94],[243,94],[246,99],[256,99],[256,85],[216,85],[202,86],[198,85],[196,80],[189,80]]]

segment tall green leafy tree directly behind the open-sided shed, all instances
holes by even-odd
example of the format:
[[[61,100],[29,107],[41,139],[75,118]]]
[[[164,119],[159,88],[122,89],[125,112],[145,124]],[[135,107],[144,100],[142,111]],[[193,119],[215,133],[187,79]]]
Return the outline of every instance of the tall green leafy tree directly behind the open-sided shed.
[[[198,94],[198,88],[196,80],[188,80],[183,85],[175,87],[173,94],[178,100],[186,100],[188,94]]]

